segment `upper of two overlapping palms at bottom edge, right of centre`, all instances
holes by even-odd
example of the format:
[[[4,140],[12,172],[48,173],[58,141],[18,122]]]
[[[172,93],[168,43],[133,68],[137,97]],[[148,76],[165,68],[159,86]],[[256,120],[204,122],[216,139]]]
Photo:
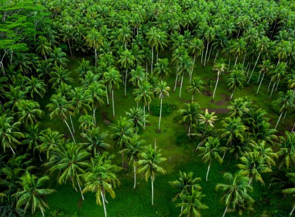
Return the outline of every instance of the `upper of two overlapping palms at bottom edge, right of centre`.
[[[177,180],[168,182],[174,189],[177,189],[177,194],[172,198],[172,201],[180,199],[180,196],[186,192],[190,193],[192,190],[201,191],[202,188],[198,184],[199,181],[201,181],[201,178],[193,178],[193,172],[186,174],[185,172],[179,171],[179,177]],[[183,206],[181,206],[181,212],[182,210]]]

